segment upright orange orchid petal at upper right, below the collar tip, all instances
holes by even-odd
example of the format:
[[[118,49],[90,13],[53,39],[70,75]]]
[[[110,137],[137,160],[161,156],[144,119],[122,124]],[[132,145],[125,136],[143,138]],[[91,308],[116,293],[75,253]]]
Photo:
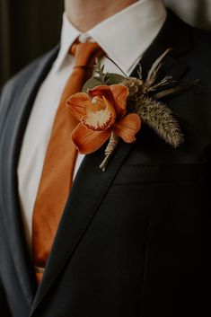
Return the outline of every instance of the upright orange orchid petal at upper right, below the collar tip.
[[[128,88],[124,84],[112,84],[110,91],[116,104],[117,117],[121,118],[126,113],[127,97],[129,94]]]

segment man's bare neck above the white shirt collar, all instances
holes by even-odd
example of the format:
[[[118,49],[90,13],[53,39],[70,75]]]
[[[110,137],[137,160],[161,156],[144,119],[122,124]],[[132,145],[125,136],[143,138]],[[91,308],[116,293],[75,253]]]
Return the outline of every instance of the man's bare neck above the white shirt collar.
[[[65,0],[68,20],[80,31],[88,31],[137,0]]]

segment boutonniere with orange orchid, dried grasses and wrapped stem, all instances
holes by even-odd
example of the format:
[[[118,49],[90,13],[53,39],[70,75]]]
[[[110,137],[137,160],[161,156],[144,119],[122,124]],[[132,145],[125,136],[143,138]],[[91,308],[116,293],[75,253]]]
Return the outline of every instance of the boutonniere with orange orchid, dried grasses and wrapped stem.
[[[171,75],[157,81],[163,58],[170,50],[167,49],[155,60],[145,80],[140,65],[138,77],[127,77],[104,73],[101,61],[96,60],[96,75],[84,84],[83,92],[75,93],[67,100],[67,107],[79,120],[72,133],[79,153],[91,154],[109,140],[100,165],[102,171],[105,171],[119,141],[135,142],[136,133],[143,123],[153,128],[169,145],[176,148],[182,143],[179,122],[171,110],[159,101],[181,89],[180,86],[165,89],[171,83]]]

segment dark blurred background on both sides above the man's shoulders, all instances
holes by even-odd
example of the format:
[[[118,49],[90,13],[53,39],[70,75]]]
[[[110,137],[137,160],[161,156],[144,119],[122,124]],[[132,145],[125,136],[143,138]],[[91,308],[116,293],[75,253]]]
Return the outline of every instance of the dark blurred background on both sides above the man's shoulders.
[[[164,2],[187,22],[211,30],[211,0]],[[0,87],[57,44],[63,11],[63,0],[0,0]]]

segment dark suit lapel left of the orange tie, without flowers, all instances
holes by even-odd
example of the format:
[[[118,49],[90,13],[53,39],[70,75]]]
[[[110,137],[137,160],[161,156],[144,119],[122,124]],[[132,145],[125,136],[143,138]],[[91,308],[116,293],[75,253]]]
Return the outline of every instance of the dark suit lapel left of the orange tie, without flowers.
[[[35,295],[35,281],[30,257],[24,237],[22,216],[18,196],[17,163],[22,145],[22,136],[31,113],[36,93],[57,55],[57,48],[31,67],[33,75],[24,78],[25,85],[12,101],[1,132],[0,172],[4,186],[1,187],[2,205],[4,206],[3,222],[5,234],[11,247],[14,268],[22,286],[27,304],[31,306]],[[27,81],[28,80],[28,81]],[[6,102],[6,101],[5,101]]]

